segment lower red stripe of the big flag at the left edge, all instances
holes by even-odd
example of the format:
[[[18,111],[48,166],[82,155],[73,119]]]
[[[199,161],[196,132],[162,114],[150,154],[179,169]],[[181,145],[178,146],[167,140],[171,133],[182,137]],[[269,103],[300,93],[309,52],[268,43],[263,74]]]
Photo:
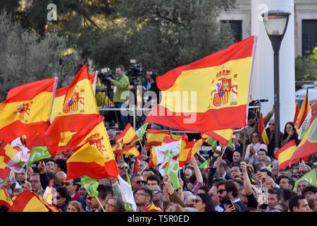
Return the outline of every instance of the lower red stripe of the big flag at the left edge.
[[[0,129],[0,140],[11,143],[18,136],[26,135],[28,137],[35,136],[37,133],[45,133],[49,128],[49,121],[38,121],[30,124],[23,124],[17,120],[8,126]]]

